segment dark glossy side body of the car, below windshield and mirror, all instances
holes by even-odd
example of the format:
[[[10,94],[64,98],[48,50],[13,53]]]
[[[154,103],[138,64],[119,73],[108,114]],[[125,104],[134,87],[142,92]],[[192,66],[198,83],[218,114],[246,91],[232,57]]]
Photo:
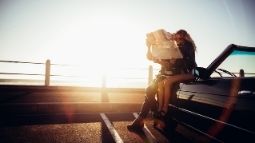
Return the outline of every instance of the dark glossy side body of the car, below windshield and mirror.
[[[240,96],[240,91],[253,88],[251,81],[254,79],[228,77],[181,83],[176,100],[170,104],[175,109],[173,116],[178,122],[219,141],[251,140],[254,96]]]

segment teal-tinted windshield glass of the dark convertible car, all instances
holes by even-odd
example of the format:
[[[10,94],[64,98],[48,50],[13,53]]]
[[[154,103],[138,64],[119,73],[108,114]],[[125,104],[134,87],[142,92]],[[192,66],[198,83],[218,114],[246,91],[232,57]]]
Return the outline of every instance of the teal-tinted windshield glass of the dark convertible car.
[[[255,77],[255,51],[234,50],[212,73],[211,77]]]

